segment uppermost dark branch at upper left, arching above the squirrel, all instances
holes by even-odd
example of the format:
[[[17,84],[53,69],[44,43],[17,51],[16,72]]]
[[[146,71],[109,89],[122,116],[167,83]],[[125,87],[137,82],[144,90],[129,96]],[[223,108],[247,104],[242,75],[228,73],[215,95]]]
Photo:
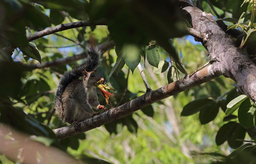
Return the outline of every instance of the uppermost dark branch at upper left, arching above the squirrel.
[[[78,21],[74,23],[66,23],[66,24],[61,24],[57,25],[55,27],[50,27],[45,30],[36,32],[35,34],[28,36],[28,42],[33,41],[35,39],[41,38],[43,36],[47,36],[50,34],[54,34],[56,32],[72,29],[72,28],[77,28],[77,27],[84,27],[84,26],[95,26],[95,25],[107,25],[106,20],[98,20],[98,21]],[[2,48],[2,50],[5,50],[6,52],[12,51],[16,48],[14,45],[6,46],[5,48]]]

